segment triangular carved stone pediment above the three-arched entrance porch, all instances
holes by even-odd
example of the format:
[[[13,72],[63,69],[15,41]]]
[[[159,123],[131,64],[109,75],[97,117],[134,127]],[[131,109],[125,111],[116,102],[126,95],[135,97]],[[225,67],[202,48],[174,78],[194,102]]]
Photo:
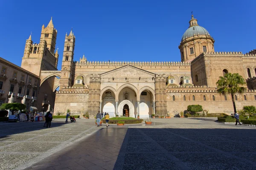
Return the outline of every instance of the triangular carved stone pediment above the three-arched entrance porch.
[[[154,77],[155,74],[151,73],[149,71],[145,71],[143,69],[131,66],[131,65],[125,65],[120,68],[116,68],[114,70],[108,71],[106,73],[103,73],[100,75],[102,78],[112,78],[112,77]]]

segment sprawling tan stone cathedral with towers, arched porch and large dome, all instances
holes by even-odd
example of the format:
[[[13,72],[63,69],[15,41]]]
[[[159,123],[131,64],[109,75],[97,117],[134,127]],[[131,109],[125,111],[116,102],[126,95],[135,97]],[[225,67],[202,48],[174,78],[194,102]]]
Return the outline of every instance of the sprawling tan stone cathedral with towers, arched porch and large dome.
[[[247,91],[236,94],[237,109],[256,106],[256,50],[215,52],[215,40],[192,15],[189,28],[181,36],[179,62],[74,61],[76,37],[65,35],[61,71],[57,70],[57,30],[52,19],[42,26],[40,42],[26,40],[21,68],[40,77],[37,108],[54,114],[91,116],[98,111],[110,116],[141,118],[151,114],[173,116],[188,105],[202,105],[209,113],[232,113],[230,95],[216,92],[216,82],[227,73],[239,73],[246,79]],[[58,91],[56,91],[58,89]]]

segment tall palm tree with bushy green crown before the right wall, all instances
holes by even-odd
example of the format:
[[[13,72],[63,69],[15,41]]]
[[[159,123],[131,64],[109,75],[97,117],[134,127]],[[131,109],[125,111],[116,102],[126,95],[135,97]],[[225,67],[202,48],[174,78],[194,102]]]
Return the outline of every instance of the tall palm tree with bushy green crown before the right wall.
[[[236,113],[236,103],[234,95],[236,93],[243,93],[246,91],[246,88],[240,87],[240,85],[246,84],[244,78],[238,73],[227,73],[224,77],[219,77],[220,79],[216,82],[217,92],[219,94],[231,94],[234,112]]]

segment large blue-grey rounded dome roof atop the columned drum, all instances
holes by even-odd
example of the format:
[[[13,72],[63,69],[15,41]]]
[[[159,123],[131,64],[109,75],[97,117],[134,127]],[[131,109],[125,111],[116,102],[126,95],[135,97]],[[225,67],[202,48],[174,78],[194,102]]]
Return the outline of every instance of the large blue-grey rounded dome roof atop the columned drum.
[[[185,31],[185,33],[181,37],[181,41],[183,41],[186,38],[193,37],[194,35],[210,35],[210,34],[204,27],[191,26]]]

